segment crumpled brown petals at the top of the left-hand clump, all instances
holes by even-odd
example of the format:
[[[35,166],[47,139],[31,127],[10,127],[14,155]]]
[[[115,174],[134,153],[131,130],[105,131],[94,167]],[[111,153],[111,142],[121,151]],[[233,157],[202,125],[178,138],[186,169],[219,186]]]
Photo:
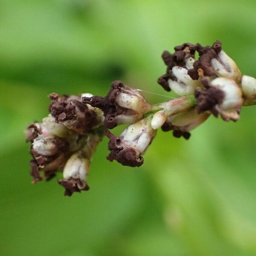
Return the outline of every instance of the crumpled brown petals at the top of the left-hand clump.
[[[49,98],[52,100],[49,111],[55,117],[56,122],[76,120],[73,124],[74,129],[83,132],[89,131],[96,125],[96,113],[89,109],[85,103],[56,93],[50,94]]]

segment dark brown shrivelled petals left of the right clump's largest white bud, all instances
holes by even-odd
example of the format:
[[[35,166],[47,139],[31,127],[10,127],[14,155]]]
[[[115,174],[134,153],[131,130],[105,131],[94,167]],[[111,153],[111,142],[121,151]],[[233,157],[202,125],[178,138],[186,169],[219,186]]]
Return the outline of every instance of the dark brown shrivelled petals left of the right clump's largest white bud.
[[[225,93],[224,91],[211,86],[207,77],[202,79],[202,84],[206,90],[201,90],[199,88],[195,90],[195,98],[198,102],[196,110],[199,114],[203,113],[204,111],[211,111],[214,116],[218,116],[219,112],[216,109],[216,105],[223,102]]]

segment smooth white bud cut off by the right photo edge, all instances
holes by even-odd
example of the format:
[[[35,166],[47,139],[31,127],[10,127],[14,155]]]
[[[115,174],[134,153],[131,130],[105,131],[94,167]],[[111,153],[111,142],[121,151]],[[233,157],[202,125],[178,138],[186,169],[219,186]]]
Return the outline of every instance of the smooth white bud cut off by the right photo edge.
[[[256,79],[251,76],[242,77],[242,91],[245,96],[244,105],[250,106],[256,104]]]

